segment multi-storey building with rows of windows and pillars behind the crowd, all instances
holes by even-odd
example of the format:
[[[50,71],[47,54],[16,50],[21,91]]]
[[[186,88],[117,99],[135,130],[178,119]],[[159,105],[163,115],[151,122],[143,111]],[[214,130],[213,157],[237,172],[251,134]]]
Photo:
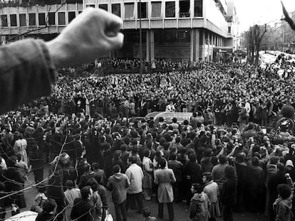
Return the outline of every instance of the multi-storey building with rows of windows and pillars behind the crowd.
[[[143,58],[147,60],[213,60],[234,48],[237,15],[232,0],[51,1],[1,6],[2,38],[38,35],[51,39],[83,9],[94,7],[123,18],[124,46],[110,56],[139,58],[140,29]]]

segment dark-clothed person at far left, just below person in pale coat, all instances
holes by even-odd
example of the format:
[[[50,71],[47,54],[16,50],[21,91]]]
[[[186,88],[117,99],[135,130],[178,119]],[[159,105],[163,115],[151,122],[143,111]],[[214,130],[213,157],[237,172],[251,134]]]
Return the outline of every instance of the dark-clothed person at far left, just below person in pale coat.
[[[5,190],[6,192],[19,192],[14,195],[11,195],[9,198],[7,198],[8,202],[6,205],[9,204],[16,204],[20,209],[26,207],[26,200],[24,198],[24,183],[25,180],[19,171],[19,169],[16,167],[16,156],[11,156],[7,160],[7,170],[4,171],[4,178],[5,180]]]

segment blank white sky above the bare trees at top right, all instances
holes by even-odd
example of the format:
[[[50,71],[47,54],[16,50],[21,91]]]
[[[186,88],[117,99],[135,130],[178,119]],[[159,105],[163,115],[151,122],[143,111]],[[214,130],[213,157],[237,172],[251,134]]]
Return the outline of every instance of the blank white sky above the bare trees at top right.
[[[283,0],[286,10],[295,11],[295,0]],[[234,0],[239,17],[239,31],[254,24],[274,23],[283,16],[280,0]]]

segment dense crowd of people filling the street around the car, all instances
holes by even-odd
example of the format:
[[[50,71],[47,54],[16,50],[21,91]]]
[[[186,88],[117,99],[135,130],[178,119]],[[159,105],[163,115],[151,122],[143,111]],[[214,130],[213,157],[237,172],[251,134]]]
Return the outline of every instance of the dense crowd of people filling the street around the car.
[[[130,207],[153,220],[153,198],[160,219],[164,203],[173,220],[183,201],[191,220],[232,220],[233,211],[291,220],[294,92],[291,74],[247,64],[60,77],[51,97],[1,116],[1,218],[8,205],[27,207],[33,173],[37,220],[104,220],[107,190],[116,220]],[[192,117],[130,120],[156,111]]]

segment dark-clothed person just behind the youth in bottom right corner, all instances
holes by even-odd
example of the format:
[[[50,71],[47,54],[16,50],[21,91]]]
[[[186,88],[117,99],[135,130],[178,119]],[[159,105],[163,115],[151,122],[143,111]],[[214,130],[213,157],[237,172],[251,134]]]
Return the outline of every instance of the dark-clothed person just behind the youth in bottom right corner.
[[[278,196],[277,192],[277,186],[281,183],[287,183],[286,180],[286,172],[285,172],[285,166],[283,163],[278,163],[277,165],[278,172],[271,175],[269,177],[269,182],[267,183],[267,188],[269,189],[269,205],[266,205],[269,207],[269,220],[274,220],[274,210],[272,209],[272,205],[274,204],[274,201],[276,200]]]

